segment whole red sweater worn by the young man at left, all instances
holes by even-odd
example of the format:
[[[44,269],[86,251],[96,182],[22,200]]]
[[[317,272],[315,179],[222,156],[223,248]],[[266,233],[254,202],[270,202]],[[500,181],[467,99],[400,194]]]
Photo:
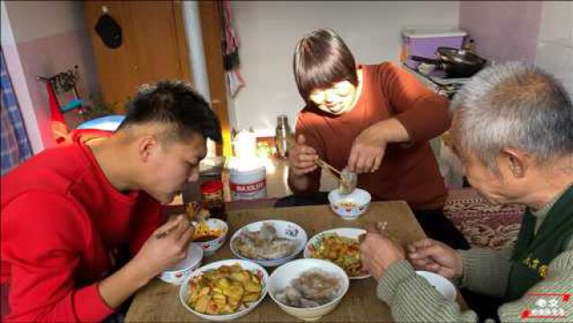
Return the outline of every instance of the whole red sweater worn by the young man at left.
[[[101,321],[97,282],[128,242],[135,254],[160,223],[144,192],[113,188],[84,144],[48,149],[2,177],[2,275],[15,321]]]

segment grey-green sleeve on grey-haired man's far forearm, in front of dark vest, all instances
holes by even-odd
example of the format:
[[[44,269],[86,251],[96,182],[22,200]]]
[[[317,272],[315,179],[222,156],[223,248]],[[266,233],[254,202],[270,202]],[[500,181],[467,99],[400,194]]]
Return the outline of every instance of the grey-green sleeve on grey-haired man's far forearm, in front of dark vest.
[[[502,297],[507,289],[511,248],[458,250],[463,258],[462,287],[484,295]]]

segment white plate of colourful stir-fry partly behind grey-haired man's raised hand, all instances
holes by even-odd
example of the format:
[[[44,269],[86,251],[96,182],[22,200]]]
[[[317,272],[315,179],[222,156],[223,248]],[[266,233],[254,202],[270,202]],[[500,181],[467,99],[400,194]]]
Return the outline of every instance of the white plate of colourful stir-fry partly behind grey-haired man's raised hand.
[[[308,240],[304,258],[329,260],[340,266],[350,279],[363,279],[371,275],[362,268],[358,237],[366,230],[339,228],[322,231]]]

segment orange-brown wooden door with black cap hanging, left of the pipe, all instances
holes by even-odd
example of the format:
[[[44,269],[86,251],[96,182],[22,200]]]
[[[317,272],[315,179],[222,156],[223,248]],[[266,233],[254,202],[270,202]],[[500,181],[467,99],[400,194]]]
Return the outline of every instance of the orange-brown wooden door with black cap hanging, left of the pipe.
[[[187,41],[179,1],[88,1],[86,20],[103,100],[119,111],[143,83],[161,80],[191,82]],[[119,48],[107,48],[94,31],[103,12],[122,29]]]

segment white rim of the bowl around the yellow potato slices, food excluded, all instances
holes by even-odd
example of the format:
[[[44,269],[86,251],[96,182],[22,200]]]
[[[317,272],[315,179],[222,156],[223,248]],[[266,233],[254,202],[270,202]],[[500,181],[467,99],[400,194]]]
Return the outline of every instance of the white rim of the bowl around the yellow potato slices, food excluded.
[[[199,313],[198,311],[191,309],[190,306],[187,305],[187,298],[189,297],[190,292],[191,292],[189,282],[191,279],[193,279],[193,277],[201,275],[202,273],[204,273],[206,271],[216,269],[220,266],[224,266],[224,265],[225,266],[233,266],[234,264],[237,264],[237,263],[242,266],[242,269],[250,270],[251,272],[255,272],[256,275],[259,275],[260,284],[262,286],[262,291],[260,292],[259,300],[251,302],[251,305],[244,310],[239,310],[233,314],[225,314],[225,315],[208,315],[208,314]],[[179,290],[179,300],[181,301],[181,304],[183,304],[183,306],[187,310],[189,310],[191,313],[197,315],[201,319],[208,319],[208,320],[212,320],[212,321],[227,321],[227,320],[231,320],[231,319],[241,318],[242,316],[249,313],[251,310],[254,310],[257,307],[257,305],[259,305],[260,301],[262,301],[265,298],[265,296],[267,296],[268,284],[269,284],[269,274],[267,273],[265,268],[263,268],[262,266],[255,264],[252,261],[242,260],[242,259],[221,260],[221,261],[216,261],[214,263],[210,263],[208,265],[202,266],[202,267],[198,268],[192,275],[190,275],[187,278],[187,280],[185,281],[185,283],[181,284],[181,287]]]

